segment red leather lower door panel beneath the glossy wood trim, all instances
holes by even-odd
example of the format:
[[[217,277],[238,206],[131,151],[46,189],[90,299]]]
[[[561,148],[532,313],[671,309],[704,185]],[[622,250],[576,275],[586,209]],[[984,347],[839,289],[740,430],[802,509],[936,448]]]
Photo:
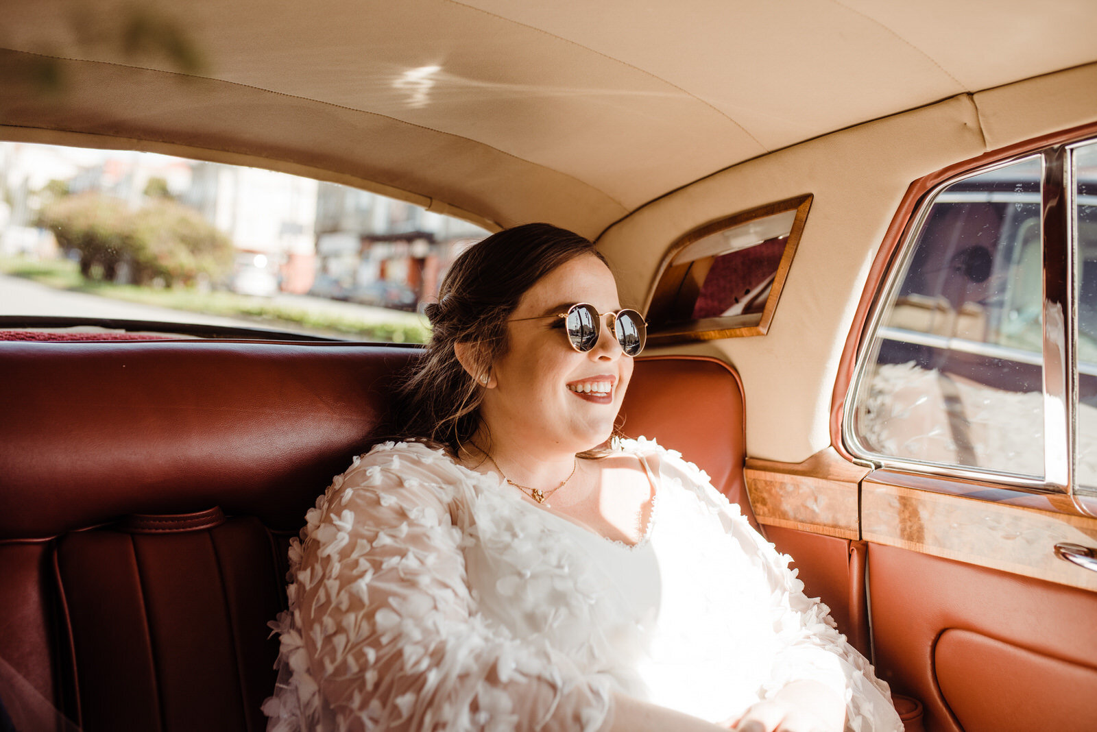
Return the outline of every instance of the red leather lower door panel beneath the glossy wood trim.
[[[927,729],[1093,730],[1097,593],[869,547],[877,671]]]

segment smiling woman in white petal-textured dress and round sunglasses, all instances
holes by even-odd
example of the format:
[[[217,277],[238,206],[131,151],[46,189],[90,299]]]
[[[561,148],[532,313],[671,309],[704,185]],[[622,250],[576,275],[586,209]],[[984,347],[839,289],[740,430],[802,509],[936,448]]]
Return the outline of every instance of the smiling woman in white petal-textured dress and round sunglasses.
[[[693,465],[611,435],[644,345],[593,245],[464,252],[402,390],[291,547],[270,730],[902,730]]]

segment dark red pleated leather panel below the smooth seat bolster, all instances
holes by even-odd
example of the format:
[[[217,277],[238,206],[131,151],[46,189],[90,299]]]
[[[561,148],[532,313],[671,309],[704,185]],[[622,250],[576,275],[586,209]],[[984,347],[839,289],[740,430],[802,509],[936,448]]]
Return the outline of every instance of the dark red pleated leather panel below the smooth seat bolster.
[[[145,516],[57,542],[79,718],[94,730],[261,730],[284,607],[252,516]]]

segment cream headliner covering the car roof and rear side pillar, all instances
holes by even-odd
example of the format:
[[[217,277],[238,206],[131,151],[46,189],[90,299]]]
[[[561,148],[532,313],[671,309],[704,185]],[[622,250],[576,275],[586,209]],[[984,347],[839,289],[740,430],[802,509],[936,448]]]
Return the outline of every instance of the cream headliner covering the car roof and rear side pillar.
[[[489,227],[552,221],[599,239],[633,306],[681,235],[812,193],[768,334],[669,348],[734,364],[748,454],[790,462],[832,442],[842,344],[909,183],[1097,121],[1093,0],[165,5],[202,78],[125,59],[115,0],[79,5],[90,27],[71,3],[5,5],[2,138],[257,164]],[[43,58],[60,59],[59,94],[27,78]]]

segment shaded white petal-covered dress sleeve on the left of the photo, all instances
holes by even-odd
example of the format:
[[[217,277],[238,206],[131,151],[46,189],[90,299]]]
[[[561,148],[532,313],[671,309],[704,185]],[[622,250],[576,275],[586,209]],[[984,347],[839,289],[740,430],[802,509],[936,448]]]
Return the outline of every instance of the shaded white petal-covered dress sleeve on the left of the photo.
[[[608,679],[584,677],[477,610],[453,521],[463,478],[440,453],[386,443],[308,512],[276,624],[291,680],[264,708],[272,729],[608,724]]]

